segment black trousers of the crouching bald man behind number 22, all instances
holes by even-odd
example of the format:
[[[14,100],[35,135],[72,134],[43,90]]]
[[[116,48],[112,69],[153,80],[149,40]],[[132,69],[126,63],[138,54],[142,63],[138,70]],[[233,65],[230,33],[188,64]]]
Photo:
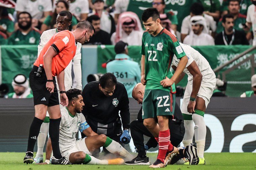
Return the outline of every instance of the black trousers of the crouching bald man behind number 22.
[[[175,147],[178,147],[181,141],[183,140],[185,134],[185,127],[183,123],[174,122],[169,120],[169,129],[170,129],[170,140],[171,144]],[[144,137],[146,135],[150,137],[147,142],[147,146],[149,148],[157,147],[158,143],[155,137],[151,134],[151,132],[143,125],[143,122],[139,120],[134,120],[130,124],[131,137],[133,139],[134,146],[138,150],[138,155],[144,156],[146,155],[146,151],[144,148]]]

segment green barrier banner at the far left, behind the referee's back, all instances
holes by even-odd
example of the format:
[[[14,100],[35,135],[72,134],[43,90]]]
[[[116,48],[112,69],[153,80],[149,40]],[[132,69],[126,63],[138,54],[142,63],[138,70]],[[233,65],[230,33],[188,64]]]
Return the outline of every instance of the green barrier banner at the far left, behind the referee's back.
[[[10,91],[12,78],[16,74],[29,77],[37,58],[37,45],[1,46],[2,83],[7,83]]]

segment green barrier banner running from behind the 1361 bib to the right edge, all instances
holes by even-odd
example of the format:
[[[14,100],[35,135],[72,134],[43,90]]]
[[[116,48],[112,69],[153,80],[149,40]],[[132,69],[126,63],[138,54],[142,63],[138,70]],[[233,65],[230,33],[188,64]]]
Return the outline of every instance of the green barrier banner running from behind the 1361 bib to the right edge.
[[[199,51],[210,63],[212,69],[225,64],[227,61],[233,59],[240,53],[244,52],[252,46],[195,46],[193,47]],[[129,56],[133,61],[140,63],[140,47],[139,46],[128,46]],[[239,60],[232,62],[228,66],[224,67],[216,76],[220,76],[221,73],[233,65],[241,62],[243,59],[249,57],[251,54],[256,53],[256,50],[252,51],[241,57]],[[101,64],[109,59],[115,58],[114,46],[98,46],[98,72],[105,73],[106,69],[101,67]],[[256,61],[256,55],[254,57]],[[251,90],[251,62],[245,62],[238,68],[234,69],[226,75],[227,80],[227,91],[226,95],[230,97],[238,97],[243,92]],[[177,84],[177,86],[185,87],[187,84],[187,77]]]

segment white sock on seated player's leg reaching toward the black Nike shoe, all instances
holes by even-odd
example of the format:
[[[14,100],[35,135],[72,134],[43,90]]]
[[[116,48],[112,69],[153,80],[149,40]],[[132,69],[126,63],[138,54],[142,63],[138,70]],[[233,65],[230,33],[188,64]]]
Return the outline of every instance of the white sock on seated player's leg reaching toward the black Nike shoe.
[[[112,154],[118,153],[122,157],[133,159],[133,156],[115,140],[112,140],[112,142],[106,147],[106,150]]]

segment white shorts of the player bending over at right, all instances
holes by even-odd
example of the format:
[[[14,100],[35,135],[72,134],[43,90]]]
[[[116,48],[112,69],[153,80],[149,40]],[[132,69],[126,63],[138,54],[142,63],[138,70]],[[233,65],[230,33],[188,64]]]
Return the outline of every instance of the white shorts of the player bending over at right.
[[[184,114],[189,114],[192,115],[192,113],[188,112],[188,103],[189,103],[189,99],[190,99],[190,95],[192,92],[192,86],[193,84],[188,83],[185,93],[184,93],[184,97],[183,97],[183,102],[182,102],[182,106],[181,106],[181,112]],[[205,108],[207,108],[208,104],[210,103],[210,98],[213,95],[213,90],[216,86],[216,78],[214,77],[212,80],[209,80],[207,82],[202,81],[201,82],[201,87],[198,91],[197,96],[202,98],[205,101]]]

